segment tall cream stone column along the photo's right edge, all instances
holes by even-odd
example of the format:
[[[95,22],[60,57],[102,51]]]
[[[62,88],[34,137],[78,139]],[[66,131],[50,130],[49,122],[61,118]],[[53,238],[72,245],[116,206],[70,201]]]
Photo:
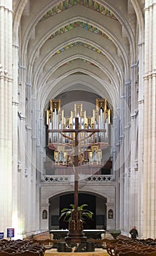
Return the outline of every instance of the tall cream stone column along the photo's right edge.
[[[144,42],[144,227],[143,236],[156,236],[156,3],[145,1]]]

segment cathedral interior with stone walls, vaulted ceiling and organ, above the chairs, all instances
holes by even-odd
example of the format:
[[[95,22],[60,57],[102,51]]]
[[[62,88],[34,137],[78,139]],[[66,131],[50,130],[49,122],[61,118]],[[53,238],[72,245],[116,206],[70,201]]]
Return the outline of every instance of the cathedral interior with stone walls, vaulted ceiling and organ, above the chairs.
[[[156,238],[155,0],[0,1],[0,232]],[[75,182],[77,181],[77,182]]]

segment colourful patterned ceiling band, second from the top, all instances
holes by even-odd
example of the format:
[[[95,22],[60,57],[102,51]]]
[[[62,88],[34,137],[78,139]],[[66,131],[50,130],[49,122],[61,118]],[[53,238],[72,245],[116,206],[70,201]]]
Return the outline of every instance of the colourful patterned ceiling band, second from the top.
[[[95,34],[99,34],[99,35],[105,37],[106,39],[109,38],[106,34],[104,34],[104,32],[102,32],[100,29],[97,29],[95,26],[92,26],[90,24],[84,23],[82,21],[76,21],[74,23],[70,23],[70,24],[68,24],[66,26],[63,26],[61,29],[58,29],[57,31],[55,31],[55,33],[53,33],[50,36],[50,39],[52,39],[53,37],[58,36],[59,34],[66,33],[67,31],[70,31],[71,29],[74,29],[74,28],[76,28],[78,26],[83,28],[83,29],[87,29],[89,31],[92,31]]]

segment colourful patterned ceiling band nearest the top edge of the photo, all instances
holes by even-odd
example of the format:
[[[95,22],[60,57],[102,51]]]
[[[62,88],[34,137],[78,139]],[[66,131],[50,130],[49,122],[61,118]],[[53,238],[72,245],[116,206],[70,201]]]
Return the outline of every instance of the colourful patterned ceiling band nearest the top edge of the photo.
[[[58,14],[59,12],[63,12],[66,9],[69,9],[70,7],[73,7],[74,5],[82,4],[87,8],[90,8],[91,10],[95,10],[96,12],[100,12],[103,15],[109,16],[110,18],[113,18],[114,20],[117,20],[117,18],[114,16],[112,12],[110,12],[106,7],[104,7],[102,4],[99,4],[97,1],[93,0],[65,0],[61,1],[60,4],[55,5],[52,9],[50,9],[42,18],[42,20],[46,20],[47,18],[52,17],[53,15]]]

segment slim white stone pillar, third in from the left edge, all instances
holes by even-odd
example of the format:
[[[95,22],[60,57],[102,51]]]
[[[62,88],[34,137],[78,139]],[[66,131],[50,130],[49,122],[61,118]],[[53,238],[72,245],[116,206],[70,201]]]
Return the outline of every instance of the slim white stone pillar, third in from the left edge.
[[[18,173],[18,222],[20,233],[26,232],[26,197],[27,197],[27,169],[26,169],[26,67],[19,67],[19,105],[18,105],[18,161],[21,162]]]

